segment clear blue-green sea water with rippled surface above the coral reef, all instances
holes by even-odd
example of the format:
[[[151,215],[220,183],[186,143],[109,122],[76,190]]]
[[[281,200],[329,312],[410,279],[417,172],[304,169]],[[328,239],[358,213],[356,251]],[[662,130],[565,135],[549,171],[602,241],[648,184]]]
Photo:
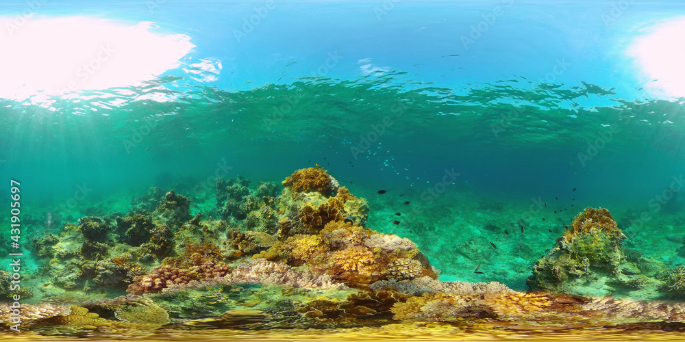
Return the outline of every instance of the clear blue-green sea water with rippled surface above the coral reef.
[[[217,177],[242,175],[254,188],[318,164],[369,201],[367,228],[414,241],[440,280],[525,291],[534,263],[586,207],[611,211],[626,248],[684,262],[685,94],[630,53],[653,27],[675,25],[679,3],[65,1],[29,6],[35,14],[18,25],[27,6],[0,10],[16,25],[0,44],[79,16],[65,49],[90,18],[151,22],[147,32],[193,47],[145,79],[107,83],[147,65],[116,54],[136,57],[145,44],[84,40],[86,63],[102,44],[121,45],[66,94],[42,83],[40,66],[0,66],[7,84],[31,90],[0,89],[0,173],[21,182],[24,244],[84,216],[123,217],[151,186],[218,218]],[[677,56],[677,39],[660,47]],[[50,49],[3,53],[40,53],[50,65]],[[682,64],[672,68],[677,76]],[[53,84],[83,74],[66,75]]]

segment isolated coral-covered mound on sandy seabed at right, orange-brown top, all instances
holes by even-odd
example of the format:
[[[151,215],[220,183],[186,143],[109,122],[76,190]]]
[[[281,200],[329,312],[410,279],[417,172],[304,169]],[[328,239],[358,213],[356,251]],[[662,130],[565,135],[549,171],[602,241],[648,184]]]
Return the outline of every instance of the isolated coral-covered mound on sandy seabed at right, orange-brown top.
[[[628,261],[621,246],[625,238],[607,209],[588,207],[536,262],[528,285],[576,295],[654,293],[659,282],[651,277],[660,263],[644,256]]]

